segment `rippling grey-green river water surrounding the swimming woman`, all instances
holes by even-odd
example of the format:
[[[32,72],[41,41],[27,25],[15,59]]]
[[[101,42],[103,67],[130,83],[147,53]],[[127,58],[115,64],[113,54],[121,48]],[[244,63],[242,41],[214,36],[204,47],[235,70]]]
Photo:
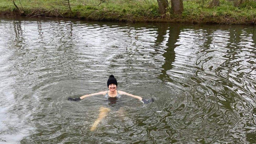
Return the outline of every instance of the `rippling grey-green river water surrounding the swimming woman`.
[[[256,143],[255,44],[255,26],[1,18],[0,143]],[[155,102],[67,100],[110,74]]]

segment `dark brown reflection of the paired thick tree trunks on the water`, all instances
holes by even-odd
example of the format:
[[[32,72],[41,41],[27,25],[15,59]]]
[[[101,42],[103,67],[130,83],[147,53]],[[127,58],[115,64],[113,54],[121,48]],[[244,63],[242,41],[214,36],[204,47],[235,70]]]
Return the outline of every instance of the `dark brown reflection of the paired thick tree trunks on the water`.
[[[157,41],[161,41],[164,35],[164,30],[159,31],[159,35],[156,40]],[[175,47],[177,47],[178,45],[176,44],[176,42],[178,42],[179,39],[179,34],[181,31],[181,26],[180,25],[176,25],[173,26],[171,25],[169,27],[169,38],[168,38],[168,42],[166,44],[167,48],[166,48],[166,52],[164,52],[164,54],[162,55],[164,57],[165,63],[162,65],[162,71],[161,74],[159,76],[159,78],[161,80],[166,80],[169,79],[168,75],[167,75],[167,71],[172,69],[172,63],[175,60],[175,52],[174,49]]]

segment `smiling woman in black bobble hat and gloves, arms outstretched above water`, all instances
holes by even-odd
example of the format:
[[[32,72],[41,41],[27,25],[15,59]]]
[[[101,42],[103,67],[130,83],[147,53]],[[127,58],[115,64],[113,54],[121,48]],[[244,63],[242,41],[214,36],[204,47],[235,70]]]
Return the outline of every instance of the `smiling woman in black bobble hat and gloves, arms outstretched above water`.
[[[133,97],[133,98],[136,98],[136,99],[140,100],[143,104],[148,104],[148,103],[153,101],[153,99],[145,100],[145,99],[143,99],[139,96],[132,95],[132,94],[117,90],[116,89],[117,88],[117,81],[116,81],[116,78],[112,74],[109,76],[107,86],[108,86],[109,90],[98,92],[98,93],[93,93],[93,94],[83,95],[82,97],[79,97],[79,98],[68,98],[68,100],[78,101],[78,100],[82,100],[84,98],[94,96],[94,95],[105,95],[106,98],[120,98],[121,95],[128,95],[130,97]]]

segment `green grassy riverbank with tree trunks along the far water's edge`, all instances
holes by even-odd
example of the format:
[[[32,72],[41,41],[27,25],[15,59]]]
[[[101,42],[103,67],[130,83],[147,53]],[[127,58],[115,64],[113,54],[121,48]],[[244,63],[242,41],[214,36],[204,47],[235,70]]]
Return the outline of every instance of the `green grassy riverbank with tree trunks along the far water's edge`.
[[[21,0],[15,1],[24,9],[27,17],[66,17],[88,20],[110,20],[126,22],[186,22],[217,24],[256,24],[256,1],[246,0],[240,7],[233,2],[221,0],[220,6],[207,8],[209,1],[185,0],[182,15],[174,15],[170,9],[162,17],[157,0],[74,0],[71,10],[60,0]],[[170,4],[169,4],[170,7]],[[2,15],[17,15],[11,1],[0,0]]]

